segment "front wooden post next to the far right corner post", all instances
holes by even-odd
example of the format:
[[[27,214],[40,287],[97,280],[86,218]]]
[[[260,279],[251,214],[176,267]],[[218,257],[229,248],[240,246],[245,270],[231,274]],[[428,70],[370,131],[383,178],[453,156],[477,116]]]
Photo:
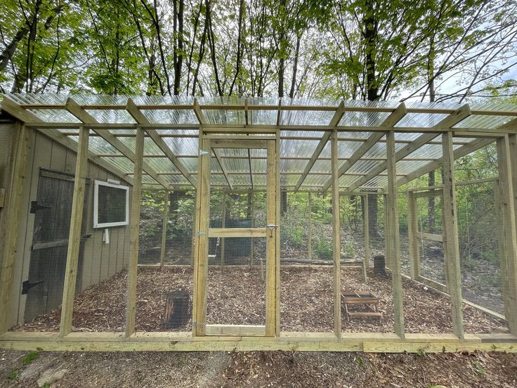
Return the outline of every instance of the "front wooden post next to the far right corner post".
[[[445,132],[442,135],[442,148],[445,277],[452,306],[452,330],[459,339],[463,339],[462,276],[459,267],[458,221],[452,132]]]

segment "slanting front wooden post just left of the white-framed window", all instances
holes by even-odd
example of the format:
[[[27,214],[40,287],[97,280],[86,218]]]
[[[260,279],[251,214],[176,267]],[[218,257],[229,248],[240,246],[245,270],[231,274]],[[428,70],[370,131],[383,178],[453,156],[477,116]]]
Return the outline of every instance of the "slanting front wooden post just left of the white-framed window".
[[[77,162],[75,164],[74,195],[72,198],[72,218],[68,235],[67,264],[65,283],[63,284],[63,303],[61,304],[61,322],[59,335],[64,337],[72,328],[72,313],[74,311],[75,284],[77,267],[79,265],[79,245],[81,245],[81,226],[84,209],[84,191],[86,190],[86,175],[88,174],[88,128],[79,129]]]

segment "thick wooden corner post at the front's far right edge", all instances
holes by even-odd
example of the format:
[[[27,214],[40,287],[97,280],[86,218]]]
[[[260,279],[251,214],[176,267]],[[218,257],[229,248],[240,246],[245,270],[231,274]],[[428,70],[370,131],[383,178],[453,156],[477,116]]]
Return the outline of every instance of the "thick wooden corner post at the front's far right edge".
[[[510,332],[517,334],[517,233],[515,203],[512,182],[511,147],[508,135],[497,139],[499,167],[499,206],[501,217],[500,240],[502,249],[501,275],[504,300],[504,316]]]

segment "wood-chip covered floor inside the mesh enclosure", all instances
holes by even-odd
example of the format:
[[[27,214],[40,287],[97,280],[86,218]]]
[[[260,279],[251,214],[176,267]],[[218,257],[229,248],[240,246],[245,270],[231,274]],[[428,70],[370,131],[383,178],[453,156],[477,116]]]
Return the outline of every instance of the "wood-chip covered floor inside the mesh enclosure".
[[[379,297],[382,318],[348,321],[343,313],[343,332],[393,332],[391,276],[368,271],[362,281],[360,270],[341,270],[342,291],[372,292]],[[136,330],[163,331],[166,293],[183,288],[192,295],[190,267],[140,267]],[[207,323],[263,325],[266,316],[265,280],[258,266],[210,267],[207,280]],[[280,273],[280,330],[330,332],[334,328],[332,266],[282,266]],[[126,273],[122,271],[92,285],[74,301],[74,331],[124,330]],[[406,332],[452,332],[450,298],[420,283],[403,280]],[[190,315],[190,314],[189,314]],[[188,318],[187,318],[188,319]],[[18,326],[17,331],[59,330],[60,309]],[[464,305],[467,333],[508,332],[506,323],[469,305]],[[190,331],[191,322],[180,331]]]

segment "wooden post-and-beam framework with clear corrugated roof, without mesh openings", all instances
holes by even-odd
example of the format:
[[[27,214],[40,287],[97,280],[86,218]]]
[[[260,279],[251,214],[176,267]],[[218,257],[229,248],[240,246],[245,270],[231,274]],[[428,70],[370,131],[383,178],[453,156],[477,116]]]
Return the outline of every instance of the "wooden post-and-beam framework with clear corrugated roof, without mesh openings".
[[[517,235],[516,196],[517,177],[517,108],[497,110],[463,105],[459,108],[436,106],[398,106],[378,104],[321,105],[318,102],[301,105],[296,101],[277,104],[256,103],[247,99],[199,103],[197,99],[178,99],[151,103],[145,98],[120,100],[98,98],[66,98],[61,103],[46,103],[43,99],[24,95],[3,96],[1,109],[20,122],[15,157],[13,159],[13,188],[8,194],[8,229],[2,257],[0,281],[0,347],[15,349],[60,350],[227,350],[227,349],[292,349],[332,351],[461,351],[473,349],[517,349]],[[78,101],[77,101],[78,100]],[[36,102],[34,102],[36,101]],[[103,116],[103,112],[106,115]],[[122,115],[124,113],[126,116]],[[171,122],[157,121],[169,113]],[[50,116],[49,116],[50,115]],[[122,119],[119,119],[122,115]],[[52,117],[51,117],[52,116]],[[51,117],[51,119],[49,118]],[[105,119],[112,117],[112,119]],[[131,120],[128,121],[127,118]],[[176,119],[174,119],[176,117]],[[179,117],[179,119],[178,119]],[[195,119],[192,119],[192,117]],[[223,117],[221,119],[221,117]],[[266,117],[266,118],[264,118]],[[314,118],[316,117],[316,119]],[[488,125],[487,117],[496,124]],[[177,120],[177,121],[174,121]],[[358,124],[359,123],[359,124]],[[373,123],[373,124],[372,124]],[[77,152],[73,212],[67,253],[63,312],[59,333],[9,332],[5,311],[8,311],[12,283],[12,267],[16,259],[17,212],[23,190],[24,169],[27,164],[27,132],[40,131],[65,147]],[[77,140],[76,140],[77,139]],[[92,140],[93,139],[93,140]],[[190,144],[195,152],[181,153],[174,139]],[[99,152],[93,141],[109,145],[112,152]],[[505,242],[502,252],[504,273],[505,318],[509,335],[469,335],[464,332],[459,247],[456,220],[454,160],[492,142],[497,143],[499,160],[498,196],[501,207]],[[291,143],[289,143],[291,142]],[[294,142],[294,143],[293,143]],[[296,143],[299,142],[299,143]],[[147,144],[152,143],[148,149]],[[306,144],[298,153],[290,146]],[[283,145],[286,145],[284,147]],[[440,151],[421,151],[433,146]],[[221,153],[220,148],[263,148],[266,155],[249,150],[242,157]],[[349,153],[341,153],[348,147]],[[377,150],[377,151],[376,151]],[[381,151],[379,151],[381,150]],[[374,152],[375,151],[375,152]],[[380,152],[380,156],[379,156]],[[421,152],[421,153],[419,153]],[[218,164],[224,183],[210,182],[210,160]],[[151,160],[166,161],[168,171],[159,171]],[[245,160],[249,171],[232,171],[226,160]],[[84,182],[88,161],[109,169],[132,186],[131,198],[131,259],[128,267],[126,325],[124,332],[71,332],[74,288],[77,276],[79,232],[84,202]],[[133,169],[120,167],[114,160],[129,160]],[[198,161],[197,171],[188,167],[189,160]],[[253,171],[252,160],[266,160],[266,179]],[[329,162],[322,169],[318,162]],[[411,162],[411,167],[407,167]],[[296,171],[284,169],[283,164],[299,163]],[[367,167],[365,167],[367,166]],[[405,332],[403,309],[403,275],[400,269],[400,237],[398,231],[398,188],[417,177],[443,168],[444,236],[447,285],[445,291],[452,304],[453,333],[415,335]],[[237,184],[235,176],[248,174],[251,184]],[[260,183],[263,182],[263,183]],[[135,330],[136,273],[138,269],[138,222],[140,194],[143,186],[160,187],[167,191],[185,188],[197,190],[195,214],[194,298],[192,333]],[[220,187],[218,187],[220,186]],[[264,190],[268,196],[267,228],[239,231],[231,228],[209,227],[207,209],[211,187],[233,191]],[[280,190],[308,191],[310,223],[310,193],[322,193],[331,188],[333,199],[333,264],[334,264],[334,331],[332,333],[280,332]],[[339,195],[360,195],[368,207],[368,194],[385,195],[386,199],[386,258],[393,282],[393,333],[352,334],[341,331],[341,247]],[[435,191],[432,191],[435,193]],[[412,278],[421,280],[419,257],[414,249],[418,238],[414,218],[414,200],[418,192],[408,192],[410,241],[412,242]],[[168,198],[165,203],[167,204]],[[168,208],[166,206],[166,208]],[[167,210],[168,211],[168,210]],[[166,240],[164,214],[162,246]],[[365,214],[366,256],[369,257],[368,215]],[[262,236],[267,239],[266,261],[266,325],[264,327],[206,325],[208,271],[208,239],[236,235]],[[310,232],[309,232],[310,235]],[[310,248],[311,250],[312,248]],[[312,254],[312,253],[310,253]],[[363,260],[362,276],[367,280],[367,261]],[[164,252],[160,254],[164,265]],[[430,284],[430,283],[429,283]]]

